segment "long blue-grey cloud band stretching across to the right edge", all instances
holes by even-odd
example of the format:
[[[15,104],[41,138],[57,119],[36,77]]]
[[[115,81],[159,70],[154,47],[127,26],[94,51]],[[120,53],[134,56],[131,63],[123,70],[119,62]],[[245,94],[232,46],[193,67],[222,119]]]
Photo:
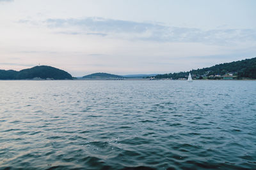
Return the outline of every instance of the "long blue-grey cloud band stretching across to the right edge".
[[[121,39],[158,41],[158,42],[194,42],[215,45],[233,45],[241,41],[256,41],[255,29],[211,29],[202,30],[188,27],[171,27],[150,22],[132,22],[99,17],[82,19],[49,18],[45,21],[51,29],[74,29],[62,31],[62,34],[87,34],[109,36]]]

